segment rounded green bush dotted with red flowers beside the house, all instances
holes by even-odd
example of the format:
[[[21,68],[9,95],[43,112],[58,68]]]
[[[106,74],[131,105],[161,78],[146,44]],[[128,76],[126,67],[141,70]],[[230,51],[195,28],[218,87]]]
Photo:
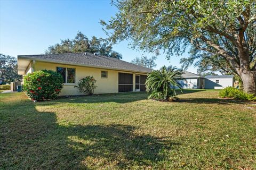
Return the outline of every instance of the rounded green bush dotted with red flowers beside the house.
[[[22,89],[32,100],[54,99],[63,88],[61,74],[52,70],[29,73],[23,80]]]

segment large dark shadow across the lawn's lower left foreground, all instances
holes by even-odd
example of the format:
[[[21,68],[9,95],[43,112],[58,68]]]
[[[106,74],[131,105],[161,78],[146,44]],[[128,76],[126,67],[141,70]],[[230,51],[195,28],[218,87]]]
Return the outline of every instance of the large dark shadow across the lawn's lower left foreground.
[[[2,106],[2,105],[1,105]],[[55,113],[29,102],[6,103],[0,111],[0,167],[6,169],[97,169],[151,166],[180,143],[137,134],[139,127],[60,125]]]

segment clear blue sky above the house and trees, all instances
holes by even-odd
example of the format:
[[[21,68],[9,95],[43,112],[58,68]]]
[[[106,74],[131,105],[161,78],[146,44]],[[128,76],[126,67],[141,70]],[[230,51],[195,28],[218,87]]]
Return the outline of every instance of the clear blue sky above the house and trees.
[[[78,31],[89,38],[106,38],[99,21],[108,21],[116,11],[110,0],[0,0],[0,53],[11,56],[43,54],[49,45],[60,43],[60,39],[74,38]],[[131,62],[143,52],[130,49],[128,43],[123,41],[114,45],[113,49],[123,55],[123,60]],[[145,55],[151,57],[154,54]],[[180,58],[174,56],[168,61],[161,54],[157,58],[156,69],[163,65],[180,67]],[[188,71],[196,73],[196,68],[190,66]]]

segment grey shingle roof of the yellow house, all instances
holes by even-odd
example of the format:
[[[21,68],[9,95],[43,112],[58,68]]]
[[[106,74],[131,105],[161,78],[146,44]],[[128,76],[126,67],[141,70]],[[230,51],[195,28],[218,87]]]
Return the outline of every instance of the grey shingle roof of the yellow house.
[[[84,53],[18,55],[18,58],[143,73],[152,71],[147,67],[118,60],[117,58],[93,55],[91,53],[86,53],[86,55]]]

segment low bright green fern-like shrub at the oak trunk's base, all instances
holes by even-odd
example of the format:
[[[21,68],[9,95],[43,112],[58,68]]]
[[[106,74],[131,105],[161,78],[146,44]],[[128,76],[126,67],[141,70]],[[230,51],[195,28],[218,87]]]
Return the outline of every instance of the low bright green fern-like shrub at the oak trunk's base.
[[[246,92],[233,88],[227,87],[219,92],[221,98],[234,98],[237,100],[256,101],[254,94],[246,94]]]

